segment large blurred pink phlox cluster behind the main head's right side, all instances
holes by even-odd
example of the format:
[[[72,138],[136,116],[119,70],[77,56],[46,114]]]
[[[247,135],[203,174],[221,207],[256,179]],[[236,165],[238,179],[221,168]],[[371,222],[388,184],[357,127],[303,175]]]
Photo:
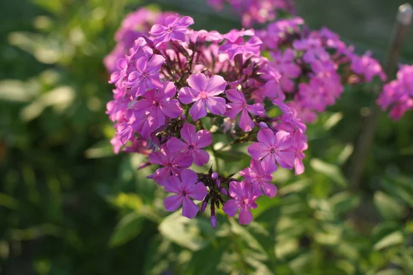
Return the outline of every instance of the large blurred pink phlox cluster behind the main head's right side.
[[[271,55],[271,66],[282,76],[281,90],[272,96],[293,98],[288,106],[306,123],[335,104],[343,85],[386,78],[370,53],[354,54],[353,47],[327,28],[308,31],[299,17],[271,23],[257,35],[264,42],[262,50]]]

